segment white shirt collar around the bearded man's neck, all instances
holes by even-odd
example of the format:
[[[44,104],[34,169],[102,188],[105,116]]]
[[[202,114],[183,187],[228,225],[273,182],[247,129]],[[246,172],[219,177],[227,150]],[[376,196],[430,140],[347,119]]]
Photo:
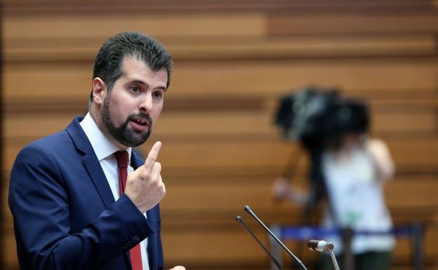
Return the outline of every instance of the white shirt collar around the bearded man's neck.
[[[99,161],[102,161],[102,159],[105,159],[114,154],[114,152],[120,150],[108,140],[105,134],[102,133],[102,130],[100,130],[89,112],[79,124],[88,137],[88,140],[90,140],[91,146],[93,147],[95,155],[98,157]],[[128,147],[126,151],[128,151],[129,160],[131,160],[132,147]]]

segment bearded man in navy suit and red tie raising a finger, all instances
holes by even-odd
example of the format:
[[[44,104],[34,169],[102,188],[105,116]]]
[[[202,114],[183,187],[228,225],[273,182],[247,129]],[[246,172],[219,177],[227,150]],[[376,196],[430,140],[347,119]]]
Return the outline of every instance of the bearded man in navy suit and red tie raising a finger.
[[[88,114],[20,151],[9,189],[20,269],[163,268],[161,142],[145,162],[131,147],[151,133],[171,67],[149,36],[113,36],[95,58]]]

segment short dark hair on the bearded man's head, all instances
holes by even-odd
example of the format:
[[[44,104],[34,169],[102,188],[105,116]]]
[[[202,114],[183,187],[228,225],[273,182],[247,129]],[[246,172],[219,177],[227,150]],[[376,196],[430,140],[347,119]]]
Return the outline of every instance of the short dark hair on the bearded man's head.
[[[171,54],[156,39],[139,32],[122,32],[107,39],[96,55],[93,78],[99,77],[111,90],[121,76],[121,63],[126,56],[144,61],[154,72],[166,69],[168,88],[171,83]],[[90,101],[93,101],[93,91]]]

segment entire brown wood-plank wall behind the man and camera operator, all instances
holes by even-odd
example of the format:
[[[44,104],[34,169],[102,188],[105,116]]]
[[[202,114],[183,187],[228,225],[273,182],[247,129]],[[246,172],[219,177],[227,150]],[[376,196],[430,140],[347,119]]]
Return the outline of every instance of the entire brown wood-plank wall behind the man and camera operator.
[[[164,145],[167,266],[267,269],[267,256],[234,218],[250,204],[268,223],[301,221],[300,207],[273,201],[270,185],[292,154],[289,173],[306,189],[307,156],[272,120],[281,95],[316,85],[369,102],[372,133],[397,166],[385,186],[394,222],[426,224],[427,269],[438,269],[436,4],[132,1],[4,1],[1,269],[18,269],[6,205],[15,155],[86,112],[95,53],[128,29],[156,36],[175,59],[164,112],[140,147]],[[409,244],[399,241],[392,269],[410,269]],[[314,256],[303,251],[306,262]]]

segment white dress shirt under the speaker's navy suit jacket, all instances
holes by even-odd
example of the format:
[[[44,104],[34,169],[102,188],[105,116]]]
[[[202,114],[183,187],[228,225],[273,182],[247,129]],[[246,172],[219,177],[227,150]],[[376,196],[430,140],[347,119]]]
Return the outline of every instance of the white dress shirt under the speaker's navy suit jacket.
[[[112,142],[102,133],[89,112],[81,121],[80,125],[88,137],[88,140],[90,140],[95,155],[98,157],[100,166],[102,167],[103,173],[105,173],[105,177],[110,185],[114,201],[117,201],[119,199],[119,171],[117,169],[117,160],[114,153],[120,149],[112,144]],[[128,151],[129,161],[131,161],[132,148],[129,147],[126,151]],[[131,164],[129,164],[128,174],[133,171],[134,169]],[[147,217],[146,213],[144,215]],[[140,243],[140,250],[143,270],[149,270],[149,261],[147,259],[147,238]]]

